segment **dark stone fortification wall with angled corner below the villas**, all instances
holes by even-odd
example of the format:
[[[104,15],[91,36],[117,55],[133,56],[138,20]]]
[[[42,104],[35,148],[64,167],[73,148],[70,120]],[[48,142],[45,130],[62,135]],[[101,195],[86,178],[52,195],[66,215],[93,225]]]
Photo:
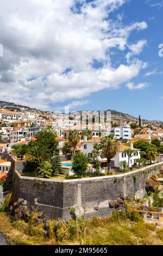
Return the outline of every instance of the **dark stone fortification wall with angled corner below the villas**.
[[[37,198],[39,210],[49,218],[69,219],[71,208],[81,210],[83,206],[88,217],[107,216],[112,211],[109,200],[134,194],[142,197],[146,180],[158,174],[161,167],[162,163],[157,163],[126,174],[65,181],[23,177],[15,170],[14,188],[16,197],[30,205]]]

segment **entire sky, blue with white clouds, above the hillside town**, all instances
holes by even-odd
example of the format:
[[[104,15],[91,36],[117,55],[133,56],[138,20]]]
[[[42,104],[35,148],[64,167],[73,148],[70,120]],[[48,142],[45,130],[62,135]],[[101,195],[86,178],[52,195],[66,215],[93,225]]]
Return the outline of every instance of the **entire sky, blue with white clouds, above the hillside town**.
[[[163,120],[163,1],[0,0],[0,6],[0,100]]]

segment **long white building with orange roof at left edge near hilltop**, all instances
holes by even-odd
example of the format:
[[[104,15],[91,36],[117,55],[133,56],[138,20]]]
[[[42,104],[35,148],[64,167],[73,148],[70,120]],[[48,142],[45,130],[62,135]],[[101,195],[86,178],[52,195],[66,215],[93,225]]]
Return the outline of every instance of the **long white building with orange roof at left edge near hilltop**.
[[[4,123],[14,123],[14,121],[21,121],[22,114],[14,111],[8,111],[6,109],[0,110],[0,121]]]

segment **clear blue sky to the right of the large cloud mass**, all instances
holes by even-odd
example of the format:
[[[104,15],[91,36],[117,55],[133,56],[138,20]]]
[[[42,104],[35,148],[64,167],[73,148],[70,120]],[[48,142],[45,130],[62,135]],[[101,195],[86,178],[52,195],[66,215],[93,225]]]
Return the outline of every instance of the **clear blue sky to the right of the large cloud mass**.
[[[133,21],[146,21],[148,28],[142,32],[134,32],[130,35],[131,41],[147,40],[147,46],[140,54],[140,59],[148,63],[146,70],[131,80],[134,83],[149,83],[149,87],[142,90],[128,90],[125,84],[120,90],[102,90],[90,96],[91,103],[82,109],[115,109],[124,113],[133,114],[142,118],[163,120],[163,57],[158,56],[158,46],[163,43],[163,7],[151,7],[152,3],[159,1],[130,0],[112,15],[122,14],[123,21],[127,24]],[[125,54],[117,54],[112,57],[116,64],[118,60],[124,60]],[[145,76],[147,72],[156,71],[156,74]]]

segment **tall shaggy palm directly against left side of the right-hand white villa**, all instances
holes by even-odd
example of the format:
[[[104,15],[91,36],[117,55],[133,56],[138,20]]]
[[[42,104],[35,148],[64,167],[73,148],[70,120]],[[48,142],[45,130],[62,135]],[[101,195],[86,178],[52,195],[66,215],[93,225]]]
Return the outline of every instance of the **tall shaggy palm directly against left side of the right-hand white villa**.
[[[108,174],[110,172],[111,159],[116,156],[120,149],[120,142],[117,141],[114,134],[101,138],[102,154],[106,157],[108,162]]]

